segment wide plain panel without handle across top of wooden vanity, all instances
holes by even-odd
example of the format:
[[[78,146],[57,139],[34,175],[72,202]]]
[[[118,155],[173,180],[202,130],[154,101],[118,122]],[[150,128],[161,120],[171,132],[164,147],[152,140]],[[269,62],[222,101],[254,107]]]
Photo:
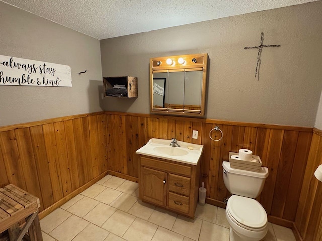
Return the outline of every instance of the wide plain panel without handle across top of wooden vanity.
[[[151,158],[142,157],[142,156],[141,156],[141,166],[160,169],[166,172],[174,172],[185,176],[191,175],[190,166],[171,163],[167,161],[159,161],[156,159],[151,159]]]

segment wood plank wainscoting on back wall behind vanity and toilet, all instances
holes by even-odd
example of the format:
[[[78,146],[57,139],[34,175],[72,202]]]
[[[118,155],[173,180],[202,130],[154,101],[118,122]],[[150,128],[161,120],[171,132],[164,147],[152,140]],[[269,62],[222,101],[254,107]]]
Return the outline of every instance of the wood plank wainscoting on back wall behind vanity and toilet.
[[[135,150],[150,138],[171,139],[204,145],[201,182],[205,182],[208,201],[223,204],[230,194],[222,177],[222,162],[229,151],[251,149],[269,168],[264,189],[257,198],[268,215],[294,221],[300,188],[310,150],[312,128],[232,123],[196,118],[129,113],[107,114],[108,169],[138,177]],[[219,142],[211,141],[209,131],[218,125],[224,133]],[[199,132],[192,139],[192,130]],[[213,138],[220,137],[213,132]]]

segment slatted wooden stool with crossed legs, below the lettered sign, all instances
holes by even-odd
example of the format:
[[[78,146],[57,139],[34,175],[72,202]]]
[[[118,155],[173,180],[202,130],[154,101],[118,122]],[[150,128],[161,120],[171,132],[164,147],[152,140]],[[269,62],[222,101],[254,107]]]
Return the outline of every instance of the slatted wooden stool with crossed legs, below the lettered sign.
[[[9,229],[12,241],[21,241],[27,230],[31,241],[42,241],[42,234],[38,218],[39,198],[9,184],[0,188],[0,233]],[[25,225],[19,228],[18,222]]]

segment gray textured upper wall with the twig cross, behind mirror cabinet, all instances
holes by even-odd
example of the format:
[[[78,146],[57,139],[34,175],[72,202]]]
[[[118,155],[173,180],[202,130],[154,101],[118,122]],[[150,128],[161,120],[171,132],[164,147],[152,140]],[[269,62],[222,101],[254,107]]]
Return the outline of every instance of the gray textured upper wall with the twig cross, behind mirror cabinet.
[[[138,77],[137,99],[104,110],[149,113],[149,59],[208,53],[206,117],[313,127],[322,89],[322,1],[101,40],[103,76]],[[264,48],[260,78],[257,49]]]

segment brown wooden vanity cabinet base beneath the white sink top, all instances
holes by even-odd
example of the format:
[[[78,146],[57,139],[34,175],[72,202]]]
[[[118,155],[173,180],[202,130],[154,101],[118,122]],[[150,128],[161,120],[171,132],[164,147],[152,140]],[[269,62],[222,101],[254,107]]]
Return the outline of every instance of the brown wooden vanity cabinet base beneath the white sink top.
[[[194,218],[199,189],[197,165],[154,157],[139,158],[139,198],[180,215]]]

